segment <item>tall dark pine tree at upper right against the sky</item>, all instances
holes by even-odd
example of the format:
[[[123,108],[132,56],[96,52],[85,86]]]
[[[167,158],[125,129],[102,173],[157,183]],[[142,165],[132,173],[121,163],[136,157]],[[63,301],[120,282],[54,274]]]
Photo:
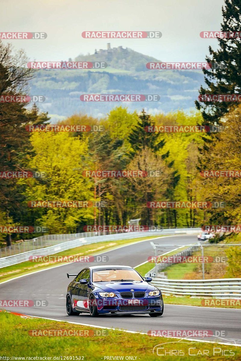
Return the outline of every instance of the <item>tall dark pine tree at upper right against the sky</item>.
[[[239,32],[241,30],[241,0],[225,0],[222,7],[222,32]],[[210,55],[206,61],[212,64],[211,69],[203,69],[206,87],[199,90],[204,94],[241,93],[241,38],[219,38],[219,49],[209,47]],[[216,69],[215,69],[216,68]],[[232,101],[199,101],[195,104],[202,112],[205,125],[220,124],[221,118],[238,102]]]

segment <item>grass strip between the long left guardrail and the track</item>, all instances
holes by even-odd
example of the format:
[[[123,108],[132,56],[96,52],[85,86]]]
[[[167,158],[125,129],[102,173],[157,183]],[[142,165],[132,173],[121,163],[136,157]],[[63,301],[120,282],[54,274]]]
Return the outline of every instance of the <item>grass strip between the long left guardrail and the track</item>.
[[[94,256],[99,253],[103,253],[104,251],[109,251],[121,245],[128,245],[134,242],[139,242],[141,240],[147,240],[156,238],[156,236],[149,236],[149,237],[140,237],[140,238],[133,238],[133,239],[123,239],[117,241],[106,241],[106,242],[99,242],[99,243],[92,243],[79,246],[77,248],[67,249],[66,251],[56,253],[55,255],[51,256],[68,256],[68,255],[83,255],[83,256]],[[38,250],[36,250],[36,255],[38,255]],[[56,266],[56,263],[34,263],[31,261],[22,262],[16,265],[4,267],[0,269],[0,280],[4,282],[8,279],[21,276],[24,274],[28,274],[30,272],[39,271],[45,268],[50,268]]]

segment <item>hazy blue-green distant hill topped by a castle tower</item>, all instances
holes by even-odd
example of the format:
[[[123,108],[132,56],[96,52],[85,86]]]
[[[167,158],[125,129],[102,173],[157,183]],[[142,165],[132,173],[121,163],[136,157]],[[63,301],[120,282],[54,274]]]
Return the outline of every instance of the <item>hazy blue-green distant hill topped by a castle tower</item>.
[[[38,103],[48,111],[52,122],[73,113],[103,116],[116,105],[129,110],[169,112],[194,108],[198,88],[203,83],[201,70],[148,70],[146,63],[160,61],[153,57],[122,47],[95,51],[92,55],[79,55],[76,61],[106,61],[103,70],[36,70],[31,81],[31,94],[44,95],[46,101]],[[69,58],[69,61],[72,61]],[[158,94],[159,101],[145,102],[83,102],[82,94]]]

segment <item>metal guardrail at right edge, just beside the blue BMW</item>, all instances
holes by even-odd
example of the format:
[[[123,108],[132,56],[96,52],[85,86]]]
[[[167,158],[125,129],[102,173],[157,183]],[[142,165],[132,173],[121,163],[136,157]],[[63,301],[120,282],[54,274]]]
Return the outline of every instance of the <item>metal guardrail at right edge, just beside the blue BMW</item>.
[[[241,278],[206,280],[152,278],[152,284],[160,288],[165,295],[241,299]]]

